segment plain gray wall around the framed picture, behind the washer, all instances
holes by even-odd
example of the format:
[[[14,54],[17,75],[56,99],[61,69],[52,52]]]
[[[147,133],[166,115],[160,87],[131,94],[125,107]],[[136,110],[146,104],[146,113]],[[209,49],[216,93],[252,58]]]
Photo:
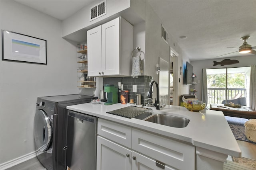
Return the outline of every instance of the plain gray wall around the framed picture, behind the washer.
[[[60,20],[12,0],[0,1],[1,29],[47,40],[47,65],[0,61],[0,166],[34,152],[38,96],[76,94],[76,45]],[[2,50],[2,45],[0,45]],[[2,53],[1,53],[2,54]]]

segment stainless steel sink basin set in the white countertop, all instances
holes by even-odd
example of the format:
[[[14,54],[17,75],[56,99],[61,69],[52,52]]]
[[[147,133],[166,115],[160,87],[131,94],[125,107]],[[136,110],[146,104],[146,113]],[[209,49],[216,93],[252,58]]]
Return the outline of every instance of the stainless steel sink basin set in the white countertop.
[[[190,120],[184,117],[177,117],[177,116],[165,115],[165,114],[156,114],[146,118],[145,121],[150,121],[153,123],[158,123],[158,124],[166,125],[170,127],[182,128],[182,127],[186,127]]]

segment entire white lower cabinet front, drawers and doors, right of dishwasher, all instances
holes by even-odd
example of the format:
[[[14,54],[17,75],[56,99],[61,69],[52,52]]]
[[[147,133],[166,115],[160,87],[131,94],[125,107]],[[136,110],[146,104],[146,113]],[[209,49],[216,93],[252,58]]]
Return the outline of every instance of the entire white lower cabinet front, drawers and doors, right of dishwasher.
[[[194,146],[98,119],[97,170],[163,169],[194,170]]]

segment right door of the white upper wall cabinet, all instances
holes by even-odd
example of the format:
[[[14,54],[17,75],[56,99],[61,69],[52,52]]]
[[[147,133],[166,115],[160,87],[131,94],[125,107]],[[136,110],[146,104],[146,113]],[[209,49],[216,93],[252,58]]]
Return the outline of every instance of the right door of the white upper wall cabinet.
[[[102,72],[120,74],[120,18],[102,25]]]

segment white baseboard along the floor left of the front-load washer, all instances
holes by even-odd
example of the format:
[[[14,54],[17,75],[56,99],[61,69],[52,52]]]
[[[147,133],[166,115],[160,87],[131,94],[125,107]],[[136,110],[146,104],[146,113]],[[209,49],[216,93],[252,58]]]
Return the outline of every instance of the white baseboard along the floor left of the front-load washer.
[[[25,162],[26,160],[30,160],[34,157],[36,157],[36,151],[25,154],[23,156],[20,156],[18,158],[15,158],[13,160],[10,160],[10,161],[7,161],[7,162],[4,162],[4,163],[0,164],[0,170],[5,170],[5,169],[10,168],[12,166],[18,165],[22,162]]]

